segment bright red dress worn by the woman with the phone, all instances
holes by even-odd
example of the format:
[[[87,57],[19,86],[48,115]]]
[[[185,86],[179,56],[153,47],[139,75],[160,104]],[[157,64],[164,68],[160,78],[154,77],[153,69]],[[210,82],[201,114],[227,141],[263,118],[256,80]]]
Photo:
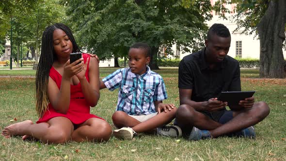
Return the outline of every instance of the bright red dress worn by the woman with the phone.
[[[85,63],[87,58],[89,58],[90,56],[88,54],[82,54],[82,57]],[[89,65],[89,62],[87,64],[85,77],[86,77],[86,80],[89,82],[88,65]],[[51,79],[53,79],[56,82],[58,88],[60,89],[61,82],[62,82],[62,75],[58,71],[56,71],[56,69],[53,66],[50,68],[49,76]],[[70,104],[69,104],[69,109],[66,114],[57,113],[52,107],[52,105],[49,103],[47,112],[44,113],[42,118],[39,118],[39,120],[37,121],[37,124],[42,123],[42,122],[47,122],[49,119],[53,117],[58,117],[58,116],[63,116],[63,117],[68,118],[73,124],[81,124],[87,119],[92,118],[92,117],[100,118],[98,116],[95,116],[94,114],[90,114],[90,106],[83,96],[80,83],[78,85],[70,85]]]

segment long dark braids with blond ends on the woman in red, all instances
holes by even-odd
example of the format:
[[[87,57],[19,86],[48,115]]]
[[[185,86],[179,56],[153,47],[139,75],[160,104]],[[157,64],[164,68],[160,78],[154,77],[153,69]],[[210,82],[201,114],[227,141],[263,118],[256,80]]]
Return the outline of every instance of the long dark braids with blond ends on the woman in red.
[[[53,32],[56,29],[63,30],[73,44],[73,52],[80,52],[78,45],[71,30],[61,23],[48,26],[43,32],[42,48],[39,64],[36,72],[36,111],[39,117],[48,110],[48,78],[49,70],[53,62],[57,59],[57,54],[54,52]]]

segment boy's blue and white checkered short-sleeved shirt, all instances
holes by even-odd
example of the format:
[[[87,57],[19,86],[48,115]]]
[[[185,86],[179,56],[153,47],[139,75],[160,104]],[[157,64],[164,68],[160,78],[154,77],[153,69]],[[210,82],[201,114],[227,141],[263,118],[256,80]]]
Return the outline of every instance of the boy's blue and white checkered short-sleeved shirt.
[[[116,111],[130,115],[156,113],[154,101],[168,97],[162,77],[151,71],[149,66],[143,75],[132,73],[130,68],[122,68],[102,81],[110,91],[119,88]]]

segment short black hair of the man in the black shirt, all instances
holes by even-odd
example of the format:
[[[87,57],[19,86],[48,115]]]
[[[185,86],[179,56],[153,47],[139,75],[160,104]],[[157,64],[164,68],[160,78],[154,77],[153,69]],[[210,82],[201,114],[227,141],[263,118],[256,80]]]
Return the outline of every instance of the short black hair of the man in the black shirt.
[[[211,36],[214,34],[220,37],[230,37],[229,30],[226,28],[226,26],[220,23],[215,23],[209,28],[207,32],[207,40],[210,40]]]

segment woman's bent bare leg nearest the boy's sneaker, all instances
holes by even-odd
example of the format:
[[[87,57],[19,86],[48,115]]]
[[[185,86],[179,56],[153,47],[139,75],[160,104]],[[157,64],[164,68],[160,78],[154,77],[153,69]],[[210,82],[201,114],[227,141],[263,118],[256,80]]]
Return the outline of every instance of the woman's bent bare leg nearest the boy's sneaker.
[[[108,141],[111,137],[111,126],[100,118],[90,118],[80,124],[72,133],[72,141]]]

